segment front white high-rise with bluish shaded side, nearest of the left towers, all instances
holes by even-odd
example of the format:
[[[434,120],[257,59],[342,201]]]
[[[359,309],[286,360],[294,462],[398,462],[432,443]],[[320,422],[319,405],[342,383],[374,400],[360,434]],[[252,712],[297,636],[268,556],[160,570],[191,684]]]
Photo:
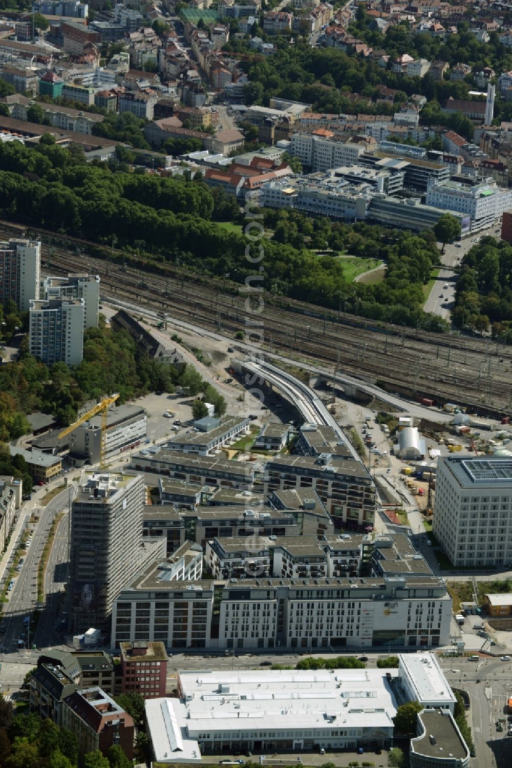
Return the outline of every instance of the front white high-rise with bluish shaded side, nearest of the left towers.
[[[31,300],[29,347],[47,366],[78,366],[84,350],[84,300]]]

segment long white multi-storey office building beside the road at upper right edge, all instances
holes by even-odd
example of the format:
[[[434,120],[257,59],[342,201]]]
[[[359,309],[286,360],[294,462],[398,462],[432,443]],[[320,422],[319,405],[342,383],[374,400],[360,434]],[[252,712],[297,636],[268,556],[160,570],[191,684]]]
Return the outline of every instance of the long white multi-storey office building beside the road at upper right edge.
[[[466,214],[471,220],[471,231],[478,232],[491,227],[504,210],[512,207],[512,190],[498,187],[491,178],[475,180],[471,186],[446,181],[429,184],[425,202]]]

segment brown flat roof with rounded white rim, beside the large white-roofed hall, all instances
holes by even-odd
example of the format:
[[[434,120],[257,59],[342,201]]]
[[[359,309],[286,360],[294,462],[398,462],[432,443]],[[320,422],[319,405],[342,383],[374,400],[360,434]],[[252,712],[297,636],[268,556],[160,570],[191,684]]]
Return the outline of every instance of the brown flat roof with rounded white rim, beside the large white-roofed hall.
[[[411,739],[411,751],[417,755],[464,760],[468,751],[461,732],[449,710],[423,710],[418,714],[423,733]]]

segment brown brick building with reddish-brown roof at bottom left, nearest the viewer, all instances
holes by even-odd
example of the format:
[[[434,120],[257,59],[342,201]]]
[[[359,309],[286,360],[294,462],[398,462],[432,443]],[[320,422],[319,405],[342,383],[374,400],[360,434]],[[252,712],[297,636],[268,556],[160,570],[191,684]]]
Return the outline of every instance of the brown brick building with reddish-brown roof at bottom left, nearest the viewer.
[[[134,756],[134,720],[99,687],[76,690],[62,703],[62,727],[78,740],[78,759],[100,750],[104,755],[114,744],[128,760]]]

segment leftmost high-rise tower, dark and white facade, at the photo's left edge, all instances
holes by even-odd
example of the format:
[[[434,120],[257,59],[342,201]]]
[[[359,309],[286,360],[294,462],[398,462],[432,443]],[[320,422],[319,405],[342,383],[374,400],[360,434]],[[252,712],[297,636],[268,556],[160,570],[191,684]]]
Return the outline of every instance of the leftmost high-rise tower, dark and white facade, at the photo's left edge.
[[[39,298],[41,243],[12,239],[0,243],[0,303],[12,299],[21,312]]]

